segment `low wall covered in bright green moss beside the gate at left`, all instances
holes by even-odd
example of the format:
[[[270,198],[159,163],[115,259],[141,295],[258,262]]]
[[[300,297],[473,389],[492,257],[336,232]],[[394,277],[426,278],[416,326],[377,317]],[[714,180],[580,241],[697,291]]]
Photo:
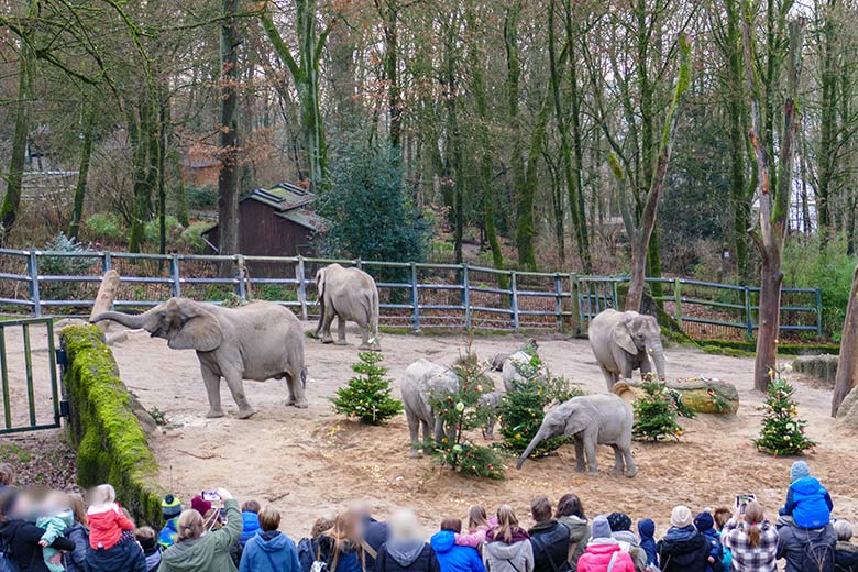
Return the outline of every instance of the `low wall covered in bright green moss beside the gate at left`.
[[[139,521],[158,526],[164,492],[157,485],[157,464],[105,333],[95,326],[73,326],[59,339],[68,360],[63,386],[78,484],[110,483]]]

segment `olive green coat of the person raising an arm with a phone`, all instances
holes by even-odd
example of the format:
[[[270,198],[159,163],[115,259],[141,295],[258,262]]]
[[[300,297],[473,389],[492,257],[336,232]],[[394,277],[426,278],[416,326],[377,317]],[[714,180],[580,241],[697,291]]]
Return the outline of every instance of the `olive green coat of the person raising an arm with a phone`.
[[[158,572],[235,572],[230,549],[241,537],[241,513],[234,498],[223,503],[227,526],[164,551]]]

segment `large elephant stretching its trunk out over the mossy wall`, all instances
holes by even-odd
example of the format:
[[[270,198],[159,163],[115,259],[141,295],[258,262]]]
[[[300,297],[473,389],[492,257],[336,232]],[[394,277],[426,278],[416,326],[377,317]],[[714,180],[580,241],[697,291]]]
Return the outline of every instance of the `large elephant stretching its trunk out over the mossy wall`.
[[[242,380],[264,382],[285,377],[289,387],[288,405],[307,407],[304,331],[298,318],[283,306],[254,301],[224,308],[188,298],[170,298],[141,315],[107,311],[90,321],[101,320],[143,328],[153,338],[166,339],[174,350],[196,350],[209,397],[207,417],[223,416],[221,377],[239,406],[240,419],[254,414],[244,396]]]

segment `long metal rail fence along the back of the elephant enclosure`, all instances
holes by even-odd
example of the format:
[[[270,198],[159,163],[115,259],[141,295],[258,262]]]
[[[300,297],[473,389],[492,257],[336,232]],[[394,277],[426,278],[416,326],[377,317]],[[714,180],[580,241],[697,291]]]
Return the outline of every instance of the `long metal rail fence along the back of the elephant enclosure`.
[[[101,276],[116,268],[121,276],[118,308],[153,306],[170,296],[216,302],[238,296],[277,301],[306,320],[318,316],[316,271],[333,262],[373,275],[383,321],[415,331],[428,327],[581,331],[598,311],[617,306],[618,286],[629,282],[622,276],[497,271],[468,264],[0,250],[0,309],[33,316],[87,314]],[[253,268],[261,267],[264,275],[254,275]],[[647,282],[669,293],[656,299],[689,333],[752,336],[757,329],[758,287],[685,278]],[[782,330],[821,337],[820,289],[783,288],[782,295]]]

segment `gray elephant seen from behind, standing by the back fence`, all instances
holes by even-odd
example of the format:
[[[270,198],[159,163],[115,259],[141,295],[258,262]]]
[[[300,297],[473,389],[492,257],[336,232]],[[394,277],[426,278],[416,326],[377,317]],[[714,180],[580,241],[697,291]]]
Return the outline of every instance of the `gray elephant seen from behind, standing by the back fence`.
[[[345,345],[345,322],[358,322],[361,350],[381,350],[378,344],[378,288],[372,276],[360,268],[330,264],[316,273],[321,314],[316,336],[332,343],[331,322],[337,317],[337,344]]]

